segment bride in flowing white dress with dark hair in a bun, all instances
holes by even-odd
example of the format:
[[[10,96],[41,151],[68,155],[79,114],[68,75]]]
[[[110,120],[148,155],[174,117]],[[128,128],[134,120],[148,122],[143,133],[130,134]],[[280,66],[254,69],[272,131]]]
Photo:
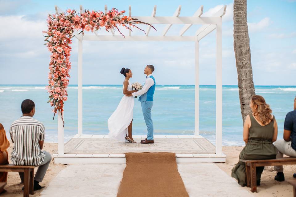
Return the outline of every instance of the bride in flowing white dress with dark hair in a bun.
[[[130,78],[133,77],[133,73],[130,69],[122,68],[120,73],[125,76],[123,81],[124,95],[116,110],[108,119],[108,135],[109,138],[117,139],[122,142],[136,143],[132,137],[134,97],[125,96],[125,94],[131,94],[138,90],[133,90],[132,88]]]

